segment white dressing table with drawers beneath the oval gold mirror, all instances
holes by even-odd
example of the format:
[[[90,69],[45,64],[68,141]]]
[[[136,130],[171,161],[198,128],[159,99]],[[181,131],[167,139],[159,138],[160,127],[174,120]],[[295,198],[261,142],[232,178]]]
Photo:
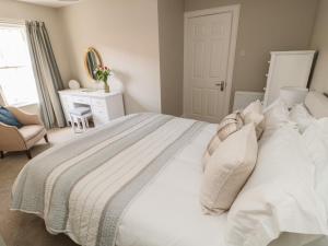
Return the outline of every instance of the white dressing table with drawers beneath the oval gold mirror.
[[[59,96],[68,124],[70,124],[70,109],[82,105],[91,107],[95,127],[125,115],[122,94],[120,92],[83,92],[83,89],[65,90],[59,92]]]

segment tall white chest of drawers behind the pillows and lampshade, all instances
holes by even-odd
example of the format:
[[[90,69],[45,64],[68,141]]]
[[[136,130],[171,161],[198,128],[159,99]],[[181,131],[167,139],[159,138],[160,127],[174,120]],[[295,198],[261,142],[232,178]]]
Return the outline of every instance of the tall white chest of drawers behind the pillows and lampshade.
[[[314,50],[271,52],[265,89],[265,107],[279,98],[281,87],[307,86],[314,56]]]

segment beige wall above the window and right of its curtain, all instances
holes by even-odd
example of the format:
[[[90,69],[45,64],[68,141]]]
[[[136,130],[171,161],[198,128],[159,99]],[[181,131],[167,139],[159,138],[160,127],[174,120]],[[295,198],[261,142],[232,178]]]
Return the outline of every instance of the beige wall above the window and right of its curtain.
[[[66,43],[61,32],[61,23],[55,9],[13,0],[0,0],[0,19],[44,21],[48,28],[62,80],[63,82],[69,80],[71,75],[66,56]]]

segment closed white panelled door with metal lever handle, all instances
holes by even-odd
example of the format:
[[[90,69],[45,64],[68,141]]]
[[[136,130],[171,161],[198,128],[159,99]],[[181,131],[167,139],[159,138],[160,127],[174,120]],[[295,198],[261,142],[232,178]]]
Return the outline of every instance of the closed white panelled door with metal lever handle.
[[[185,115],[218,122],[229,112],[236,35],[233,11],[186,17]]]

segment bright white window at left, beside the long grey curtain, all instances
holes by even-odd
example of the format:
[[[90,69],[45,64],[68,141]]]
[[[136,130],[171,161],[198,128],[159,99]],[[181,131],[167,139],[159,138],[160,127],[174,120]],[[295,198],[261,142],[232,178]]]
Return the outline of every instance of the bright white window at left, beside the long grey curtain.
[[[0,24],[0,90],[7,103],[38,103],[25,27]]]

